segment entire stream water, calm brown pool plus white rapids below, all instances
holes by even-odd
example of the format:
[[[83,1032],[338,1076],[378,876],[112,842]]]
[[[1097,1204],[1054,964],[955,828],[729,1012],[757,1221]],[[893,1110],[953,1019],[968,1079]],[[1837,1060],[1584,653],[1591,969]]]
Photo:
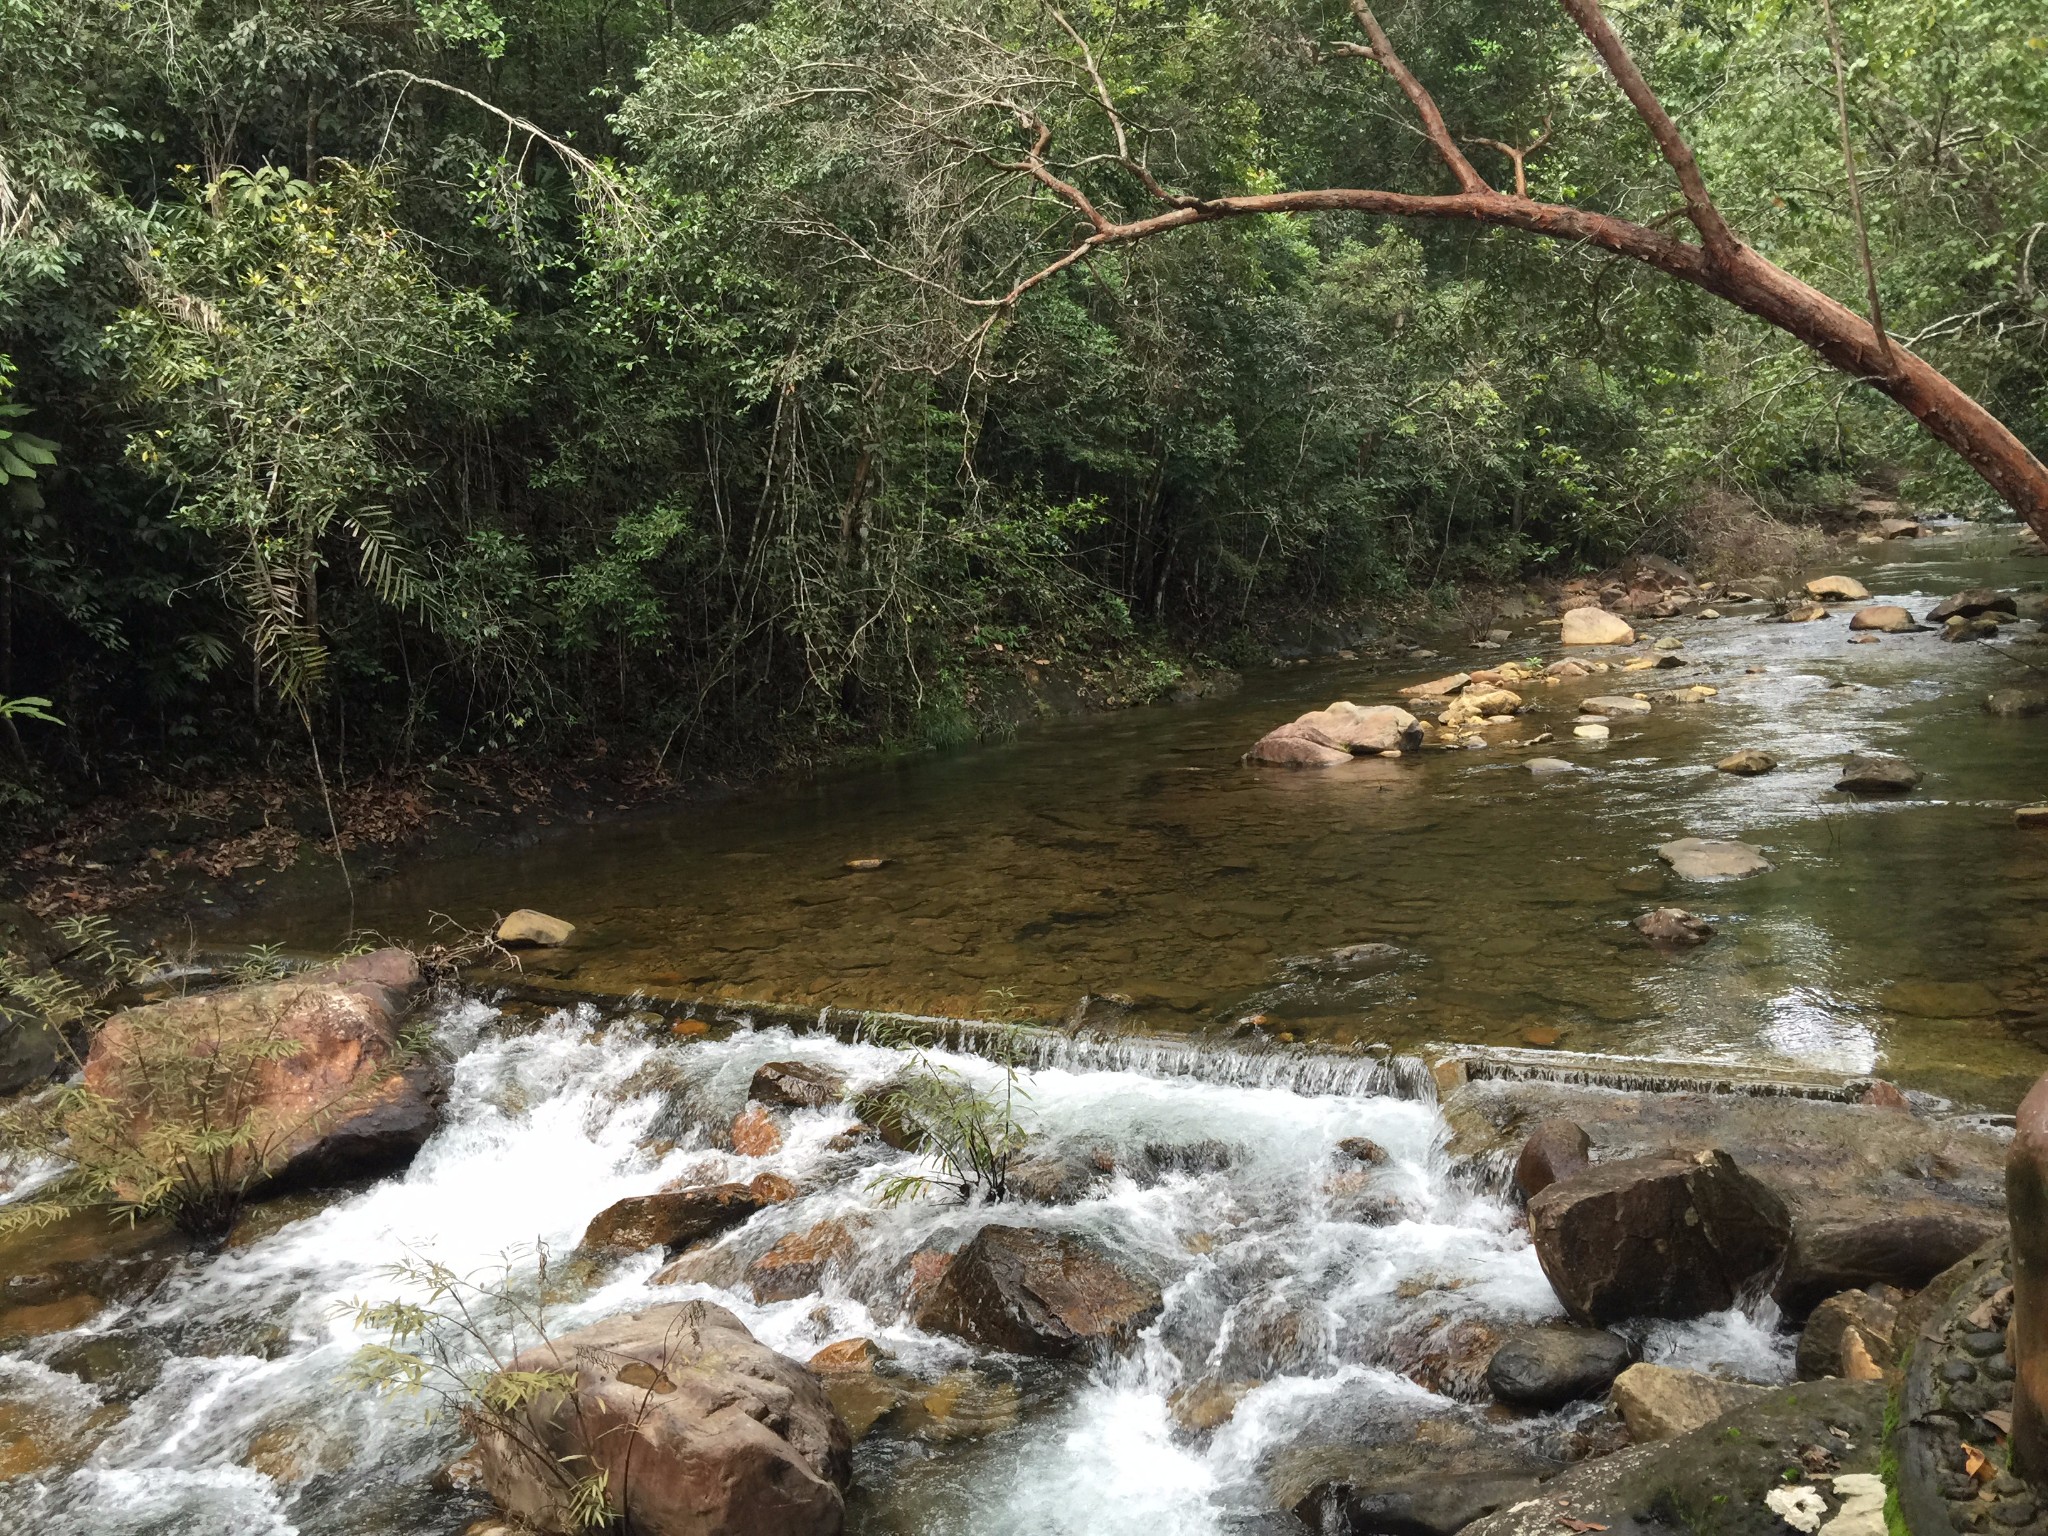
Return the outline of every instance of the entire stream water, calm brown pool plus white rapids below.
[[[1964,586],[2038,586],[2048,571],[2011,549],[2011,530],[1970,530],[1868,547],[1841,569],[1921,612]],[[889,1204],[879,1180],[922,1163],[848,1143],[846,1106],[793,1112],[762,1157],[721,1149],[717,1128],[768,1061],[858,1090],[899,1071],[893,1051],[768,1024],[676,1038],[629,1006],[449,997],[434,1004],[446,1116],[406,1174],[254,1206],[219,1253],[78,1221],[0,1243],[0,1274],[125,1276],[88,1296],[0,1296],[0,1528],[457,1536],[489,1513],[442,1475],[465,1436],[424,1399],[348,1380],[369,1341],[352,1303],[406,1294],[389,1266],[408,1255],[524,1268],[537,1245],[567,1255],[612,1200],[760,1174],[799,1194],[659,1290],[655,1253],[569,1266],[555,1325],[702,1296],[797,1360],[874,1339],[897,1395],[856,1448],[858,1536],[1278,1536],[1303,1530],[1286,1505],[1323,1448],[1464,1436],[1583,1454],[1595,1405],[1509,1417],[1473,1374],[1489,1329],[1561,1311],[1516,1204],[1446,1155],[1432,1079],[1407,1053],[1540,1042],[1561,1069],[1597,1051],[1878,1073],[1929,1106],[1991,1112],[2048,1065],[2032,1038],[2048,1026],[2048,838],[2011,819],[2048,788],[2048,719],[1980,709],[2034,676],[2030,657],[2048,662],[2025,645],[2036,627],[1997,645],[1847,645],[1839,614],[1757,612],[1651,625],[1692,666],[1630,682],[1720,692],[1618,719],[1606,743],[1573,741],[1569,721],[1577,696],[1616,692],[1612,676],[1532,690],[1538,711],[1487,752],[1243,768],[1260,733],[1305,709],[1382,702],[1483,657],[1286,668],[1225,700],[559,829],[512,858],[369,887],[354,922],[401,938],[424,938],[434,911],[571,918],[561,969],[594,991],[967,1018],[1061,1018],[1116,993],[1128,1049],[1040,1053],[1018,1079],[1034,1143],[1114,1174],[1061,1206]],[[1556,655],[1554,633],[1497,655],[1538,647]],[[1507,741],[1538,729],[1587,772],[1530,774]],[[1784,766],[1716,774],[1737,748]],[[1903,754],[1927,778],[1849,799],[1831,784],[1853,750]],[[1688,887],[1653,854],[1677,836],[1741,836],[1776,870]],[[889,862],[850,872],[850,858]],[[1628,920],[1665,901],[1718,936],[1651,950]],[[334,946],[348,915],[307,899],[242,922],[229,940]],[[1403,961],[1368,977],[1290,965],[1362,940]],[[938,1059],[999,1079],[981,1057]],[[1339,1143],[1356,1137],[1389,1155],[1370,1200],[1343,1176]],[[1163,1315],[1094,1364],[922,1333],[905,1317],[913,1255],[991,1219],[1090,1237],[1161,1286]],[[745,1266],[821,1221],[852,1235],[852,1255],[821,1292],[756,1305]],[[1776,1321],[1759,1303],[1634,1339],[1653,1362],[1778,1382],[1792,1337]]]

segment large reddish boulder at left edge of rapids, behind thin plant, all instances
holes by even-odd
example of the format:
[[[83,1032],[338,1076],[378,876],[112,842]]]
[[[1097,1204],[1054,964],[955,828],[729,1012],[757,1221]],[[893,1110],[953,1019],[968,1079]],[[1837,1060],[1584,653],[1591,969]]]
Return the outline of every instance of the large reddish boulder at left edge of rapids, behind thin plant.
[[[313,973],[319,975],[319,973]],[[174,997],[109,1018],[86,1087],[129,1108],[145,1135],[170,1065],[197,1049],[246,1057],[244,1108],[274,1126],[223,1153],[223,1182],[281,1192],[389,1174],[440,1124],[446,1081],[432,1063],[397,1069],[397,1026],[420,985],[406,950],[356,956],[342,979],[276,981]],[[274,1055],[289,1044],[291,1055]]]

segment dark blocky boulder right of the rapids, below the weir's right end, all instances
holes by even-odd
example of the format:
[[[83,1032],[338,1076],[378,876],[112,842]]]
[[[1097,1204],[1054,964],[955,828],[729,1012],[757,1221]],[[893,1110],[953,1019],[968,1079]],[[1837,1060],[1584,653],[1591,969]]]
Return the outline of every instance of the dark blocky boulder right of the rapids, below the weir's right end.
[[[1530,1200],[1530,1241],[1573,1321],[1698,1317],[1776,1270],[1792,1217],[1720,1149],[1595,1163]]]

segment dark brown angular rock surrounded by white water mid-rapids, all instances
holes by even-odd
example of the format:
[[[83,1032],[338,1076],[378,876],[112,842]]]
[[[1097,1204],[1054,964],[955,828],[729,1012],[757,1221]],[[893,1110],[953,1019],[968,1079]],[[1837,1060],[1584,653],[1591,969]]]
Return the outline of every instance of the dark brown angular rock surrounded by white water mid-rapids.
[[[1128,1339],[1159,1305],[1155,1284],[1079,1237],[991,1225],[946,1266],[915,1321],[985,1350],[1065,1358]]]

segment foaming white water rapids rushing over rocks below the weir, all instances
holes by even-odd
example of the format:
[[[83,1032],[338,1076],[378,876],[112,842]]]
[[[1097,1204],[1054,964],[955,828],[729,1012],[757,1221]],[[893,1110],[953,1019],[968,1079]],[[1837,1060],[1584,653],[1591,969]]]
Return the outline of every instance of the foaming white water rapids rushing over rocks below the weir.
[[[774,1171],[801,1194],[762,1210],[700,1262],[702,1284],[651,1290],[647,1253],[610,1270],[557,1327],[692,1294],[729,1307],[768,1346],[805,1360],[872,1337],[907,1378],[967,1382],[979,1419],[936,1407],[885,1419],[856,1454],[850,1530],[905,1536],[1032,1532],[1200,1536],[1300,1530],[1276,1511],[1272,1468],[1290,1448],[1405,1440],[1423,1419],[1481,1425],[1479,1403],[1434,1395],[1395,1370],[1460,1325],[1556,1315],[1526,1233],[1503,1202],[1450,1176],[1436,1108],[1372,1092],[1149,1075],[1135,1065],[1049,1065],[1024,1077],[1034,1137],[1114,1149],[1208,1147],[1194,1171],[1116,1174],[1073,1206],[885,1208],[870,1180],[915,1157],[834,1149],[852,1114],[786,1118],[766,1157],[717,1151],[705,1124],[745,1100],[756,1067],[803,1059],[879,1083],[901,1057],[780,1030],[715,1042],[653,1042],[594,1012],[500,1020],[475,1001],[446,1010],[457,1059],[446,1120],[410,1171],[344,1196],[256,1241],[193,1260],[147,1300],[0,1354],[10,1405],[53,1448],[49,1464],[0,1483],[0,1530],[45,1536],[455,1536],[483,1513],[436,1473],[459,1450],[418,1399],[377,1399],[342,1376],[367,1341],[340,1313],[397,1294],[385,1266],[408,1253],[481,1270],[537,1241],[567,1253],[592,1214],[674,1178]],[[987,1081],[975,1057],[946,1057]],[[696,1122],[690,1120],[696,1116]],[[1374,1210],[1341,1180],[1337,1149],[1370,1137]],[[823,1296],[754,1305],[737,1282],[776,1239],[840,1219],[858,1241]],[[977,1358],[899,1315],[909,1255],[952,1249],[987,1221],[1087,1235],[1165,1290],[1163,1317],[1102,1366]],[[1784,1343],[1743,1315],[1661,1325],[1653,1360],[1786,1374]],[[53,1368],[88,1370],[94,1384]],[[76,1364],[74,1364],[76,1370]],[[975,1374],[963,1374],[963,1372]],[[1176,1399],[1227,1386],[1235,1411],[1188,1427]],[[954,1391],[956,1399],[958,1393]],[[950,1399],[948,1399],[950,1401]],[[106,1427],[111,1423],[111,1427]],[[1565,1419],[1493,1430],[1550,1448]],[[260,1454],[291,1446],[289,1456]],[[63,1446],[74,1446],[66,1452]],[[250,1462],[258,1462],[258,1470]]]

